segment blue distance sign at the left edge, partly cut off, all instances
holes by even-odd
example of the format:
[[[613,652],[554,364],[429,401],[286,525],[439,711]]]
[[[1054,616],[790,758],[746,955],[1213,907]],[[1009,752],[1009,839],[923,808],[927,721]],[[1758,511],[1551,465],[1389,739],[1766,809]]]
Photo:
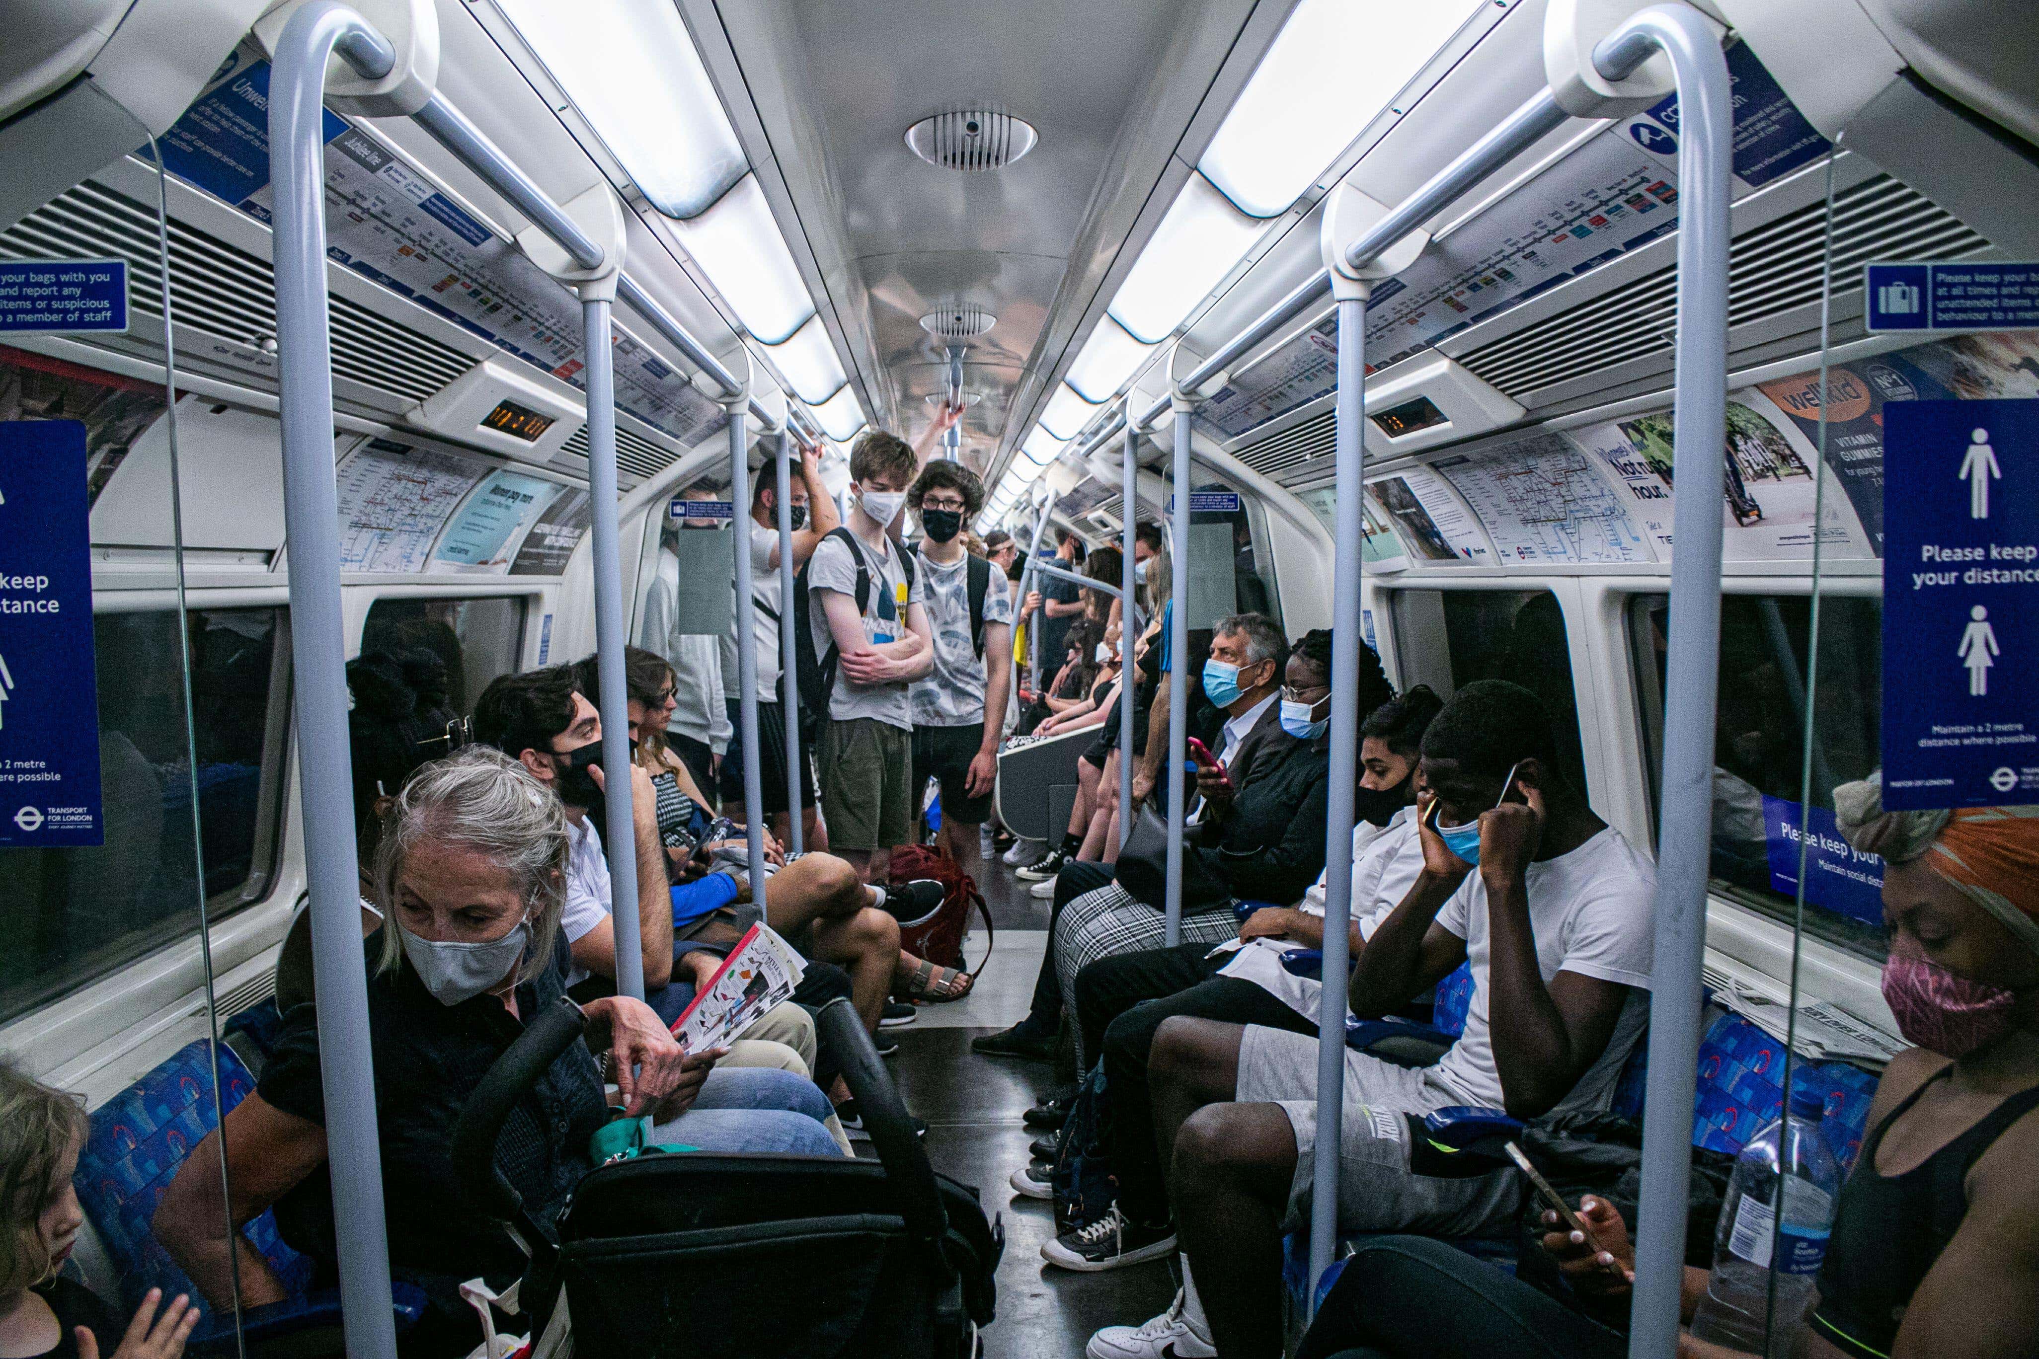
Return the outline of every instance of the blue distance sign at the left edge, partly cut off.
[[[104,844],[86,426],[0,424],[0,848]]]

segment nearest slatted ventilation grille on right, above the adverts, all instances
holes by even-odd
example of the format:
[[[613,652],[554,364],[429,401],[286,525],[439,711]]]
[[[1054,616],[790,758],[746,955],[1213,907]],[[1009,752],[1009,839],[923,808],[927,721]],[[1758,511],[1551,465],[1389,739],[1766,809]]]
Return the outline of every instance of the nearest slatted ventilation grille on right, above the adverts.
[[[1727,269],[1727,324],[1819,302],[1827,206],[1807,204],[1735,236]],[[1957,259],[1990,242],[1945,208],[1888,175],[1835,198],[1833,277],[1845,291],[1872,259]],[[1460,363],[1511,397],[1668,355],[1678,310],[1678,271],[1656,273],[1482,344]],[[1270,440],[1272,442],[1272,440]]]

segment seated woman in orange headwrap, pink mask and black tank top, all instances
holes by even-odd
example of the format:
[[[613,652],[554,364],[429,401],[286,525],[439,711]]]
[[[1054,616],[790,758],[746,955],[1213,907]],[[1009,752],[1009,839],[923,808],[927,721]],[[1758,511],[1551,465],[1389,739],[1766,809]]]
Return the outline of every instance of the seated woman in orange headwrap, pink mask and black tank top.
[[[2039,809],[1886,813],[1876,776],[1835,789],[1833,801],[1841,833],[1884,858],[1884,996],[1917,1047],[1884,1068],[1870,1135],[1841,1186],[1819,1302],[1776,1351],[2039,1353]],[[1601,1249],[1546,1212],[1541,1245],[1566,1280],[1556,1294],[1440,1241],[1368,1241],[1299,1359],[1627,1355],[1627,1222],[1601,1198],[1578,1208]],[[1686,1267],[1682,1296],[1690,1320],[1705,1269]],[[1678,1353],[1739,1351],[1682,1335]]]

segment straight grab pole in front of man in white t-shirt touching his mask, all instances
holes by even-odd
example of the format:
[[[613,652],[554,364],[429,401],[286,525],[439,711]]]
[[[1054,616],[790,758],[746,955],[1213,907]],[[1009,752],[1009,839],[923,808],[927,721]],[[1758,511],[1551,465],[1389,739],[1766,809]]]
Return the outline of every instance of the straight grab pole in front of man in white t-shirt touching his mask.
[[[1331,768],[1323,827],[1323,988],[1317,1002],[1317,1147],[1309,1200],[1309,1290],[1317,1312],[1317,1280],[1331,1265],[1338,1241],[1338,1149],[1346,1090],[1346,966],[1352,954],[1352,844],[1360,780],[1360,589],[1364,583],[1366,487],[1366,295],[1364,281],[1331,271],[1338,293],[1338,564],[1331,603]]]

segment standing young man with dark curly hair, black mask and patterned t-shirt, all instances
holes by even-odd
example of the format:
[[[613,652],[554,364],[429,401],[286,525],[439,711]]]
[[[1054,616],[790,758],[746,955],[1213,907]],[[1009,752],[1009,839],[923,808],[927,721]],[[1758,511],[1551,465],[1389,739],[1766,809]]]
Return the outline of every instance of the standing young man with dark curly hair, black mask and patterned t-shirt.
[[[926,789],[930,778],[942,784],[942,844],[975,878],[977,827],[991,815],[1011,687],[1011,593],[1003,570],[962,548],[962,526],[985,507],[977,473],[960,463],[930,463],[905,503],[926,532],[913,575],[934,636],[934,668],[911,689],[913,789]]]

